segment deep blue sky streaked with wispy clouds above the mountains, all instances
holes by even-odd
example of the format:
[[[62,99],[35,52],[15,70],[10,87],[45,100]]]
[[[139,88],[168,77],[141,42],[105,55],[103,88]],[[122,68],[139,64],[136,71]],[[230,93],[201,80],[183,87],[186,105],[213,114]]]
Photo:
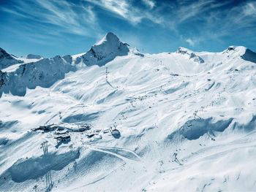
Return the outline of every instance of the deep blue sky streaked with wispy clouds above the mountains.
[[[0,26],[15,55],[83,53],[108,31],[143,53],[256,50],[256,1],[0,0]]]

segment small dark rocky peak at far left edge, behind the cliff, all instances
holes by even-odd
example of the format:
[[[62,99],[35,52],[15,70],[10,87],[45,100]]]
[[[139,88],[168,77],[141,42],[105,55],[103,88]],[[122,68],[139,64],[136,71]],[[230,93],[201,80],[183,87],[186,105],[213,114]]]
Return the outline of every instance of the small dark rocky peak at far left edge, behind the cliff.
[[[0,70],[14,64],[22,64],[23,61],[18,60],[14,56],[7,53],[0,47]]]

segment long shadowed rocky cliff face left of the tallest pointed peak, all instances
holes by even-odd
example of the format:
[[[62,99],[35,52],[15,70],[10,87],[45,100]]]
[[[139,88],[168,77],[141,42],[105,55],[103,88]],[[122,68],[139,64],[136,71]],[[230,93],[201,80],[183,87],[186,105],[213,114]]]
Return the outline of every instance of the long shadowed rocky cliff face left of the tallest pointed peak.
[[[75,69],[71,55],[63,58],[57,55],[54,58],[20,64],[11,72],[0,71],[0,98],[2,93],[24,96],[26,88],[34,89],[37,86],[48,88],[57,80],[63,79],[67,72]]]

